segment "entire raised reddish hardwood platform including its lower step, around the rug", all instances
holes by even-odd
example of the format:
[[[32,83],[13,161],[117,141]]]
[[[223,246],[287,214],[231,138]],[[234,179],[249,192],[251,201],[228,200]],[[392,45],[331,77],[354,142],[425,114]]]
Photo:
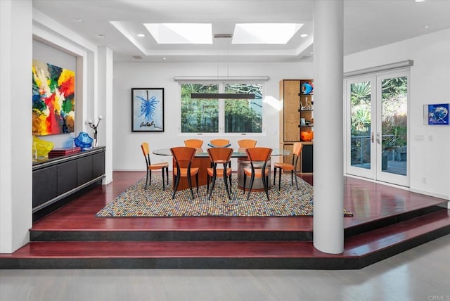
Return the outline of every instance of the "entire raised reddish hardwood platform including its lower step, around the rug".
[[[345,250],[312,243],[312,217],[96,217],[144,172],[114,181],[37,220],[31,242],[0,254],[2,269],[361,269],[450,233],[447,200],[345,178]],[[311,174],[300,177],[313,184]]]

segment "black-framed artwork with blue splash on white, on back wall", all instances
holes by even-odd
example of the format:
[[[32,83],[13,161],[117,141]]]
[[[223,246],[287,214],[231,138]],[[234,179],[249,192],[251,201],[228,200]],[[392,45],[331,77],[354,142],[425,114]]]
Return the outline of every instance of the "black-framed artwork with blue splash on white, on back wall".
[[[131,88],[131,132],[164,132],[164,88]]]

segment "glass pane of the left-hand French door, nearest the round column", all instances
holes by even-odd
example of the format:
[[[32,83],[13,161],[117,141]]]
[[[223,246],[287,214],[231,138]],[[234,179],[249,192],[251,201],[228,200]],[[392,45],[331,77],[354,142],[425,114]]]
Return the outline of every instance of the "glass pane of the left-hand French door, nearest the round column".
[[[350,85],[351,165],[371,169],[371,82]]]

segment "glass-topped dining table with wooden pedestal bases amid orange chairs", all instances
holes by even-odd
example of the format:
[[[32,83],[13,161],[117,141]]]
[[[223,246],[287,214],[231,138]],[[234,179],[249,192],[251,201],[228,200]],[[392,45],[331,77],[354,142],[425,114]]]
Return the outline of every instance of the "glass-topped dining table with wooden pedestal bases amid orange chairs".
[[[172,153],[170,152],[170,148],[160,148],[152,152],[154,155],[166,155],[166,156],[172,156]],[[280,155],[291,155],[292,152],[289,150],[285,150],[283,148],[272,148],[271,157],[274,156],[280,156]],[[238,177],[238,188],[240,189],[248,189],[248,186],[250,185],[250,181],[247,181],[244,187],[244,168],[250,167],[250,161],[247,159],[247,153],[245,152],[245,148],[238,148],[233,151],[231,154],[231,158],[237,158],[238,159],[238,170],[237,170],[237,177]],[[175,162],[173,161],[173,165],[175,166]],[[270,166],[270,160],[267,162]],[[195,156],[192,160],[191,167],[199,167],[198,170],[198,186],[206,185],[207,184],[207,168],[211,167],[211,161],[210,157],[207,153],[207,151],[203,150],[203,148],[197,148],[197,151],[195,152]],[[269,187],[271,186],[271,173],[269,173]],[[173,183],[175,181],[172,181]],[[185,178],[180,179],[180,183],[178,185],[177,191],[188,189],[188,181]],[[252,187],[252,191],[263,191],[264,186],[262,184],[262,181],[255,181]]]

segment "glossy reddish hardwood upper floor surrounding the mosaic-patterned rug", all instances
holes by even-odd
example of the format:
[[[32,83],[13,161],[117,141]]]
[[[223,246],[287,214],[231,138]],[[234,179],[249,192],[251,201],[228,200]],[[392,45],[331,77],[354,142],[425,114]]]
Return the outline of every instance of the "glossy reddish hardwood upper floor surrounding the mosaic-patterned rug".
[[[39,219],[33,230],[259,230],[311,231],[312,217],[176,217],[98,218],[95,214],[126,188],[145,177],[144,172],[114,172],[113,182],[98,186],[56,212]],[[312,184],[312,174],[302,179]],[[353,212],[345,227],[372,222],[402,212],[446,202],[440,198],[346,177],[344,207]]]

